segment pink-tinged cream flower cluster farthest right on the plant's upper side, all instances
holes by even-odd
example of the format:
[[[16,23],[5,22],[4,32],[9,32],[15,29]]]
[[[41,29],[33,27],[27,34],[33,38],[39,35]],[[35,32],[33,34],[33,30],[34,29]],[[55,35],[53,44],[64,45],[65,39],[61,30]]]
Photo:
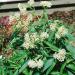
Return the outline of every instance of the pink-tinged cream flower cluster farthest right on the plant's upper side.
[[[55,34],[55,37],[57,39],[60,39],[61,37],[64,37],[66,34],[68,34],[68,30],[64,26],[61,26],[58,28],[58,31]]]

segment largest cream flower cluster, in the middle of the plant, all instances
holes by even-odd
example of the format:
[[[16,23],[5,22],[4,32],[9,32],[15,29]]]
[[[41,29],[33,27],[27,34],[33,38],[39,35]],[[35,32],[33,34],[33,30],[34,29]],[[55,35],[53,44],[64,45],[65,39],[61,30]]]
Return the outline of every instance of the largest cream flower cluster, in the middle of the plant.
[[[23,43],[23,47],[26,49],[28,48],[34,48],[35,47],[35,42],[39,40],[37,33],[32,33],[29,35],[29,33],[26,33],[24,36],[25,42]]]

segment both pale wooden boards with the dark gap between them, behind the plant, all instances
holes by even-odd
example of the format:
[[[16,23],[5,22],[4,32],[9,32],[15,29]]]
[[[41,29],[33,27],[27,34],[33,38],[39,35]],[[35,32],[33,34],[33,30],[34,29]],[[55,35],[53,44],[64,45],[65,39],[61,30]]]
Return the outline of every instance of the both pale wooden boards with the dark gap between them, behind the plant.
[[[25,0],[23,3],[27,3],[27,0]],[[54,11],[70,11],[70,10],[75,10],[75,0],[55,0],[51,1],[52,7],[47,9],[48,13],[52,13]],[[42,9],[40,10],[40,2],[36,1],[35,2],[35,7],[39,7],[36,9],[36,14],[41,14]],[[13,14],[14,12],[19,12],[18,9],[18,3],[5,3],[4,5],[1,6],[0,8],[0,16],[5,16],[5,15],[10,15]],[[32,12],[32,11],[29,11]]]

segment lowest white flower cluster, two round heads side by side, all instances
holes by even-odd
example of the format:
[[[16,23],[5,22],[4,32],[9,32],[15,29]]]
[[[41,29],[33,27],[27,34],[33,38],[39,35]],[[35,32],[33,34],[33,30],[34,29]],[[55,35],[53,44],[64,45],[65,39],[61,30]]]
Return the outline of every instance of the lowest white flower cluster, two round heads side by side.
[[[30,68],[42,68],[43,67],[43,61],[41,59],[39,59],[39,60],[29,60],[28,66]]]

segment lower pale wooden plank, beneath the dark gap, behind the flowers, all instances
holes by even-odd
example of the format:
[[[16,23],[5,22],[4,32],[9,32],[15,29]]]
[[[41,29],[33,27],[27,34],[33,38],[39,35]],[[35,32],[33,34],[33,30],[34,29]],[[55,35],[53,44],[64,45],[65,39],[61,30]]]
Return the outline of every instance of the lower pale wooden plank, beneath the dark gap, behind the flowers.
[[[55,11],[71,11],[71,10],[75,10],[75,7],[64,7],[64,8],[56,8],[56,9],[48,9],[47,12],[48,14],[52,14]],[[19,12],[19,11],[18,11]],[[28,11],[28,12],[32,12],[32,11]],[[0,16],[8,16],[8,15],[12,15],[15,12],[6,12],[6,13],[0,13]],[[41,15],[42,14],[42,10],[36,10],[35,11],[36,15]]]

